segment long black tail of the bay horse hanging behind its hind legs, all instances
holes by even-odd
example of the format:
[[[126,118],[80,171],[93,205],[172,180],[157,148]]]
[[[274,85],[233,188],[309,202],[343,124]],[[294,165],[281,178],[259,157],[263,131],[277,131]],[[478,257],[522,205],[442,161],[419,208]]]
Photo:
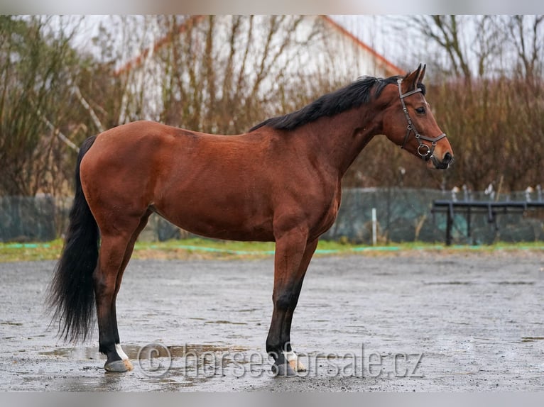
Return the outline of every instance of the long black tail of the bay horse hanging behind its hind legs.
[[[98,261],[99,230],[83,195],[80,165],[95,138],[87,138],[77,156],[70,224],[48,297],[49,305],[54,310],[53,320],[58,320],[60,336],[71,341],[81,338],[85,341],[94,320],[92,273]]]

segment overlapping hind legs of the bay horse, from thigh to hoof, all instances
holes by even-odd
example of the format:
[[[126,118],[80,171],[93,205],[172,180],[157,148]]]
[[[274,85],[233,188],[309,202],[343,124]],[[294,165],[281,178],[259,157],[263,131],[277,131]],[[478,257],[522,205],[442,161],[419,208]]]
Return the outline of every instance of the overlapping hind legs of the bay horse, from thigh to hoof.
[[[102,241],[98,267],[93,275],[94,293],[97,302],[99,351],[107,357],[104,369],[109,372],[126,372],[130,367],[129,363],[124,362],[128,358],[119,345],[114,300],[116,292],[119,291],[119,274],[122,275],[122,269],[128,262],[127,249],[140,224],[141,217],[122,221],[116,219],[115,225],[100,229]]]

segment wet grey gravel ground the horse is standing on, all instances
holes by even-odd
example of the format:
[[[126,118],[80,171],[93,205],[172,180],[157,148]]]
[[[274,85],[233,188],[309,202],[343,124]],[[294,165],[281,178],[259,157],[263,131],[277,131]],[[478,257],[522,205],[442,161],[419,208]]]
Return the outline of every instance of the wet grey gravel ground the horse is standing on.
[[[53,262],[0,264],[2,391],[542,391],[544,257],[317,257],[293,320],[308,367],[271,377],[273,261],[133,260],[117,301],[134,370],[55,338]]]

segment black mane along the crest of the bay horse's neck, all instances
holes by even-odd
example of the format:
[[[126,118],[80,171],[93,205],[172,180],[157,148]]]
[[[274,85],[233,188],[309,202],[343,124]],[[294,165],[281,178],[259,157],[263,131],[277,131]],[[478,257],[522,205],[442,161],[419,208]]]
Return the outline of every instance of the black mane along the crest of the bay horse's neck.
[[[377,97],[386,85],[396,84],[398,78],[400,77],[394,76],[387,79],[361,77],[357,81],[347,85],[347,87],[321,96],[298,111],[288,113],[284,116],[269,118],[254,126],[249,131],[257,130],[263,126],[269,126],[277,130],[294,130],[307,123],[316,121],[322,116],[334,116],[351,108],[357,108],[370,101],[371,89],[376,88],[375,95]],[[423,90],[423,94],[425,94],[423,84],[418,85]]]

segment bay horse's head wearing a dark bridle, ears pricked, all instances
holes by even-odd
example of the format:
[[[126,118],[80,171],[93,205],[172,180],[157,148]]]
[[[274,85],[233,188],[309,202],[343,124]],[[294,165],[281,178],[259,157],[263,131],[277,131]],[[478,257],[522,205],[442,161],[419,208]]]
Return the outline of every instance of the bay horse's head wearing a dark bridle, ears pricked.
[[[425,100],[424,76],[425,65],[420,65],[399,78],[394,88],[388,86],[392,102],[386,108],[383,133],[393,143],[423,158],[429,166],[446,169],[453,161],[452,146]]]

